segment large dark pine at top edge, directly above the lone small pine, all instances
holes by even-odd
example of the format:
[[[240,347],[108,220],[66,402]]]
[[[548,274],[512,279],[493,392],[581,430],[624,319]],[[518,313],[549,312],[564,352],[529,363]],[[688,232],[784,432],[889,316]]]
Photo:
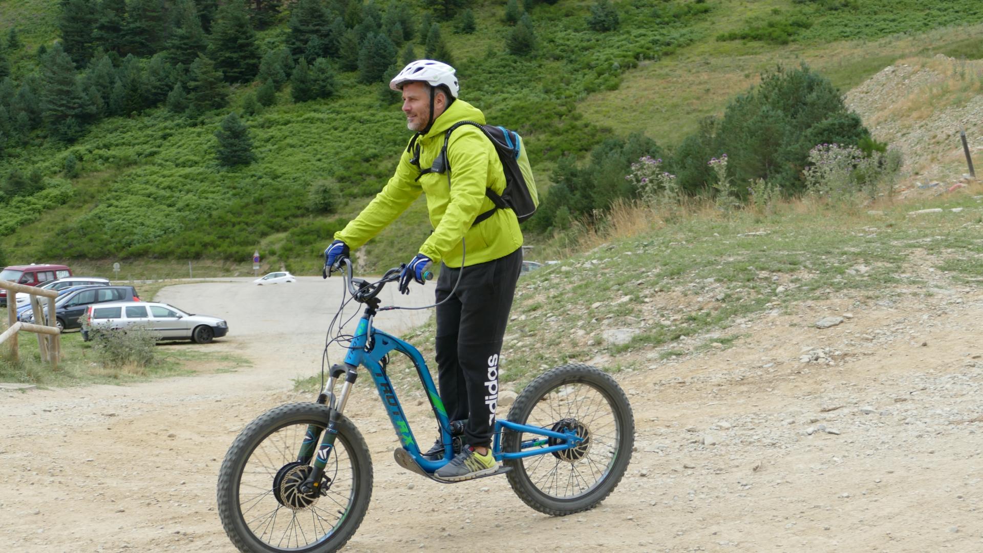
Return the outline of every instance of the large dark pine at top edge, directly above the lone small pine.
[[[260,67],[260,49],[256,32],[241,2],[229,2],[218,8],[211,26],[208,57],[229,83],[248,83]]]

